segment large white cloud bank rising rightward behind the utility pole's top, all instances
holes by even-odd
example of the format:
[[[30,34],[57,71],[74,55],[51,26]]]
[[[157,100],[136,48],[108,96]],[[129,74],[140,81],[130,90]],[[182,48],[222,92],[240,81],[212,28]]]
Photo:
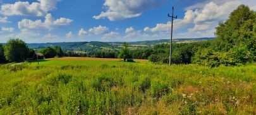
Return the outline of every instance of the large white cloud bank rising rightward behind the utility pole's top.
[[[219,4],[222,3],[222,4]],[[183,35],[192,35],[195,33],[198,37],[204,35],[214,35],[214,28],[219,21],[226,20],[229,14],[241,4],[240,1],[226,1],[226,2],[209,2],[204,7],[198,9],[188,9],[185,16],[181,19],[174,20],[174,30],[181,28],[188,28],[187,32],[181,32]],[[145,32],[169,32],[171,30],[171,21],[167,23],[158,23],[155,27],[145,27]],[[211,32],[209,34],[205,32]],[[181,36],[181,35],[178,35]],[[193,36],[193,35],[192,35]],[[206,36],[204,36],[206,37]]]

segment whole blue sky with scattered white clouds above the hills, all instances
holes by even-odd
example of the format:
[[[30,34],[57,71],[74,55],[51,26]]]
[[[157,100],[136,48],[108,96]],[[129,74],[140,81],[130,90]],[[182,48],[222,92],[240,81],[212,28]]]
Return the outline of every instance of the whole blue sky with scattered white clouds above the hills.
[[[131,42],[214,37],[220,21],[255,0],[0,0],[0,42]]]

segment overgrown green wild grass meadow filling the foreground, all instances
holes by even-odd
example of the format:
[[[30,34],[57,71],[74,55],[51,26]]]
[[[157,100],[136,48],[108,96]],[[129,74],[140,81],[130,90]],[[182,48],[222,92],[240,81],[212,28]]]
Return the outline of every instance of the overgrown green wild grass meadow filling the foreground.
[[[0,114],[256,114],[256,66],[5,64]]]

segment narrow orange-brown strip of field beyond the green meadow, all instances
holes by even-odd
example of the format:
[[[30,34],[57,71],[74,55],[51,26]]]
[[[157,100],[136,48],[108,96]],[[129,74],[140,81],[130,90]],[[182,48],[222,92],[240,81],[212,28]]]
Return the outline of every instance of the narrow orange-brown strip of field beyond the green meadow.
[[[79,57],[49,58],[47,60],[123,61],[123,59],[114,59],[114,58],[79,58]],[[135,61],[148,61],[148,60],[147,59],[135,59]]]

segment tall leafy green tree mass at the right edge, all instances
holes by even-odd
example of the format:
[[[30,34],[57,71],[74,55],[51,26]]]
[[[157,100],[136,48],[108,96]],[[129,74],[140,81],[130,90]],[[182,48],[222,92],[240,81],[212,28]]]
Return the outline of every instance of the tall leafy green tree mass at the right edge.
[[[216,28],[217,39],[207,49],[198,51],[193,63],[205,66],[252,63],[255,59],[255,21],[254,11],[250,11],[248,6],[239,6],[227,21],[219,23]]]

